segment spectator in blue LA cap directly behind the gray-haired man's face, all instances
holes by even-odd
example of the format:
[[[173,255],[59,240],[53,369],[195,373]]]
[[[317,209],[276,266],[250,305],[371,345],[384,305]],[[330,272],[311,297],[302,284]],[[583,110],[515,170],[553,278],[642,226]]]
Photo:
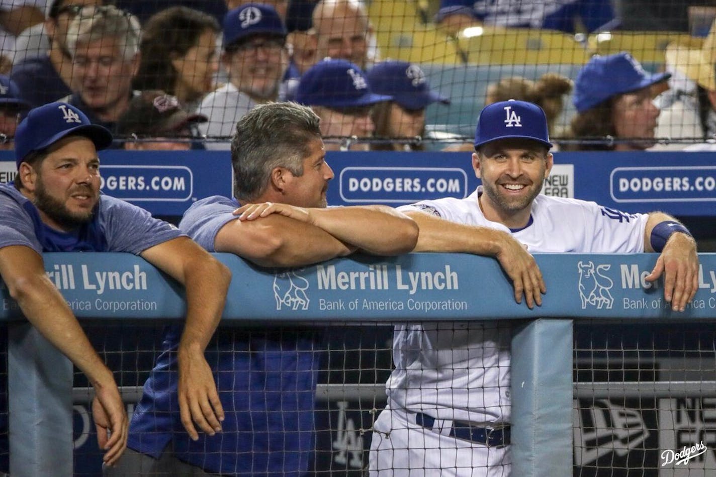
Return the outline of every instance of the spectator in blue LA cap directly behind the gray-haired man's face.
[[[373,135],[374,105],[392,96],[377,95],[368,78],[346,59],[324,59],[304,73],[296,88],[296,102],[310,106],[321,118],[326,150],[368,150],[367,143],[354,143]]]

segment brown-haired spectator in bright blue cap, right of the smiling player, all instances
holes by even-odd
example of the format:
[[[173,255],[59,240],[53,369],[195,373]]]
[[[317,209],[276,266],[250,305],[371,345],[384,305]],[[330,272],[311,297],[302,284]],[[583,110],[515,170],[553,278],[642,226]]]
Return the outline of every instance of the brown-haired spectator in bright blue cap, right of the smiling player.
[[[652,87],[669,77],[670,73],[649,74],[626,52],[591,57],[577,74],[573,97],[577,114],[571,122],[572,135],[591,141],[574,149],[652,147],[659,117]]]

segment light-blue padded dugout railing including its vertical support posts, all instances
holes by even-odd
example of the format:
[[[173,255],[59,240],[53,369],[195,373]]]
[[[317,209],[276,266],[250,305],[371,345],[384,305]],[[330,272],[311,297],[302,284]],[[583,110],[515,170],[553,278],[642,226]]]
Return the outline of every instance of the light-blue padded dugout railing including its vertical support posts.
[[[647,286],[656,254],[538,254],[548,293],[529,310],[513,300],[511,284],[496,261],[464,254],[357,256],[293,271],[258,270],[236,256],[217,254],[233,271],[222,326],[242,322],[401,322],[405,320],[521,319],[512,340],[513,473],[572,473],[572,325],[574,319],[634,322],[713,322],[716,256],[701,254],[700,289],[684,313],[664,307],[663,290]],[[134,256],[45,254],[47,271],[68,302],[89,302],[80,318],[180,319],[183,297],[175,283]],[[589,270],[596,271],[589,274]],[[99,293],[92,277],[115,274],[119,284]],[[370,274],[383,274],[380,283]],[[361,275],[363,274],[363,275]],[[409,286],[410,274],[424,276]],[[420,275],[422,274],[422,275]],[[300,306],[281,306],[277,289],[300,281]],[[360,276],[365,278],[361,281]],[[109,283],[109,282],[107,282]],[[295,284],[294,284],[295,286]],[[288,290],[288,288],[286,288]],[[411,293],[414,291],[414,293]],[[6,289],[0,317],[9,324],[11,475],[72,475],[72,366],[19,316]],[[295,293],[295,290],[294,290]],[[342,301],[339,314],[321,312],[319,301]],[[362,300],[402,302],[402,310],[362,312]],[[135,306],[127,303],[148,303]],[[634,309],[633,303],[644,307]],[[155,305],[151,305],[155,303]],[[79,308],[79,307],[78,307]],[[295,309],[294,309],[295,308]],[[440,308],[443,308],[442,310]],[[713,383],[703,383],[712,387]]]

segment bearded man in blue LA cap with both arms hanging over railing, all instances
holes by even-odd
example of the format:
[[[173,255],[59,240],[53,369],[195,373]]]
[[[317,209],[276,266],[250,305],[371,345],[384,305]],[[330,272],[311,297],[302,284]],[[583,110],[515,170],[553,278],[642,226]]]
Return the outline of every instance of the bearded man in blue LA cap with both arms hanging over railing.
[[[193,435],[194,424],[211,434],[221,428],[223,410],[203,347],[221,317],[230,280],[225,266],[174,226],[100,194],[97,150],[111,143],[112,134],[91,124],[77,107],[64,102],[37,107],[17,127],[14,183],[0,185],[0,275],[29,322],[95,387],[92,409],[108,465],[127,443],[124,405],[112,372],[47,279],[42,253],[129,252],[185,284],[188,313],[178,352],[182,414]]]

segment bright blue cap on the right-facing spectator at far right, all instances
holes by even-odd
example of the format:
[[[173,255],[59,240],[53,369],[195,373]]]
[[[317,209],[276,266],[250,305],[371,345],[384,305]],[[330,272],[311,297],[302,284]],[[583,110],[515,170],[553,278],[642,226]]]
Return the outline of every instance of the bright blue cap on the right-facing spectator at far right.
[[[577,74],[574,107],[584,112],[610,97],[641,90],[670,77],[671,73],[647,73],[627,52],[606,57],[594,55]]]

